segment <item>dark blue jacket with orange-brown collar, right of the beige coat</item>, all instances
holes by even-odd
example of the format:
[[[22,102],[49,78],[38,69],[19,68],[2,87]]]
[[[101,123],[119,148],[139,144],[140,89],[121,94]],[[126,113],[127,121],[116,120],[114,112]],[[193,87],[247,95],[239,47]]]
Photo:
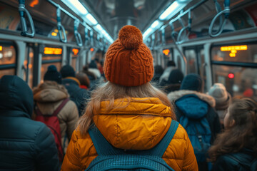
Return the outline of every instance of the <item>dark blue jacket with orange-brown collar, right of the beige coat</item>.
[[[70,99],[76,103],[79,115],[83,114],[83,110],[86,106],[86,100],[89,99],[89,92],[79,87],[79,80],[74,77],[67,77],[62,80],[62,84],[68,90]]]

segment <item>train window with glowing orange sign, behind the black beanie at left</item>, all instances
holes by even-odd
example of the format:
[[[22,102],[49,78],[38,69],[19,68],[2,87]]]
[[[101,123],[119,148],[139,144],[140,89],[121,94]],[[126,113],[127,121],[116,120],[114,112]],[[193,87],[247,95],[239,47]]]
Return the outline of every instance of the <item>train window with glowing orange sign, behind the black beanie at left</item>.
[[[62,56],[61,47],[47,46],[44,48],[44,55],[42,57],[42,66],[41,66],[41,83],[44,80],[44,75],[49,66],[54,65],[56,66],[57,71],[61,70],[61,56]]]

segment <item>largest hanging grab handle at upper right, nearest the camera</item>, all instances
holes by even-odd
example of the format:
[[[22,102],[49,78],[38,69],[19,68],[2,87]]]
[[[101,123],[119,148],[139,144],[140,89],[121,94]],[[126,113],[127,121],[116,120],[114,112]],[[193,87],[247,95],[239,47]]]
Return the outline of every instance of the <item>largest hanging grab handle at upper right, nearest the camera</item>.
[[[217,2],[216,2],[216,0],[214,0],[214,3],[216,4],[216,7],[217,7]],[[219,6],[219,5],[218,5]],[[209,27],[209,29],[208,29],[208,33],[209,33],[209,35],[211,36],[211,37],[216,37],[216,36],[219,36],[221,33],[222,33],[222,31],[223,31],[223,28],[224,28],[224,26],[225,26],[225,24],[226,24],[226,21],[228,20],[228,16],[229,16],[229,13],[230,13],[230,9],[229,9],[229,6],[230,6],[230,0],[225,0],[224,1],[224,9],[223,9],[223,11],[220,11],[220,12],[218,12],[218,14],[216,14],[216,16],[213,18],[213,20],[211,21],[211,25],[210,25],[210,27]],[[218,8],[217,8],[218,9]],[[222,14],[224,14],[224,16],[225,16],[225,19],[224,19],[224,21],[223,22],[221,22],[221,15]],[[220,26],[219,26],[219,29],[218,29],[218,31],[216,32],[216,33],[213,33],[213,26],[214,26],[214,23],[215,23],[215,21],[216,21],[216,19],[218,19],[218,17],[220,18]],[[222,24],[221,24],[222,23]]]

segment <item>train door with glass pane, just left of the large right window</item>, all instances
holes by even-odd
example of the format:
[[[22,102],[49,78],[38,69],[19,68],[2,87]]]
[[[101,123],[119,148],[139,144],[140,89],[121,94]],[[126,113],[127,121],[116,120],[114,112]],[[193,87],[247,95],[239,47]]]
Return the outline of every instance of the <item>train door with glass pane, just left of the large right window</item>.
[[[204,59],[203,46],[191,46],[183,48],[183,52],[188,61],[188,73],[198,73],[204,81],[203,91],[206,92],[206,61]]]

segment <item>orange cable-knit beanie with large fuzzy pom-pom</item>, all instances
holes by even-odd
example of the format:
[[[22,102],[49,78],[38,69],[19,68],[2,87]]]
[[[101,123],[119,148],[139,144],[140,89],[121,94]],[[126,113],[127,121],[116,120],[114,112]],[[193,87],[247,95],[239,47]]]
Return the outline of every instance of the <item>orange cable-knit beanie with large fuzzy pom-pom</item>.
[[[153,56],[138,28],[121,28],[119,38],[106,52],[104,73],[107,80],[121,86],[141,86],[151,81]]]

